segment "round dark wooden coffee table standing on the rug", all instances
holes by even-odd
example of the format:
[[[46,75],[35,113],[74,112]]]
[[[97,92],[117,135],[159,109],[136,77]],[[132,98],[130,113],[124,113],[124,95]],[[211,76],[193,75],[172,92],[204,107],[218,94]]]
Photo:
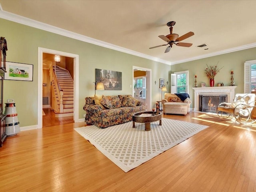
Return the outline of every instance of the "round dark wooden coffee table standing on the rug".
[[[135,128],[135,122],[145,123],[145,131],[150,131],[150,123],[159,121],[159,125],[162,125],[162,113],[156,114],[156,112],[138,112],[134,113],[132,116],[132,128]]]

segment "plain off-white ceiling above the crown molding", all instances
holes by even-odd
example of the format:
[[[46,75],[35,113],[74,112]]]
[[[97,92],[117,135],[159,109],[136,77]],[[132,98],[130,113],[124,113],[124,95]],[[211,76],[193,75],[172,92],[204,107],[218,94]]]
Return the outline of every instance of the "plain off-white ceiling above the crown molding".
[[[120,46],[124,52],[176,64],[256,47],[255,0],[0,0],[2,13],[13,13]],[[2,18],[4,18],[2,16]],[[189,48],[167,46],[159,35],[194,36]],[[208,44],[209,49],[198,48]],[[107,45],[111,48],[112,45]],[[125,49],[123,49],[125,48]]]

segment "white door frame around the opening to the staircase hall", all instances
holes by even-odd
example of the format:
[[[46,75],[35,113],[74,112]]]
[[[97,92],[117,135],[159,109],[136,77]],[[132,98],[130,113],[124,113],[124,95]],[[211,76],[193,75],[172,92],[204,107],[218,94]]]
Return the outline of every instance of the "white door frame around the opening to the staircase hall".
[[[76,54],[38,47],[38,129],[43,127],[43,53],[74,58],[74,122],[79,122],[79,56]]]

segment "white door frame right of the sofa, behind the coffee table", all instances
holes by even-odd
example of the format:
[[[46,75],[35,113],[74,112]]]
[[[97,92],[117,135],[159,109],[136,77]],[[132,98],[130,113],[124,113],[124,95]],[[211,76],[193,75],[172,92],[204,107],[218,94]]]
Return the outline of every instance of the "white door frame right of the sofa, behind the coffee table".
[[[146,106],[147,106],[147,110],[151,110],[152,109],[152,83],[151,83],[151,74],[152,74],[152,70],[148,69],[148,68],[143,68],[143,67],[137,67],[137,66],[132,66],[132,85],[133,85],[133,80],[134,80],[134,70],[142,70],[142,71],[146,71],[146,79],[147,79],[147,99],[146,99]],[[132,93],[134,92],[134,86],[132,86]]]

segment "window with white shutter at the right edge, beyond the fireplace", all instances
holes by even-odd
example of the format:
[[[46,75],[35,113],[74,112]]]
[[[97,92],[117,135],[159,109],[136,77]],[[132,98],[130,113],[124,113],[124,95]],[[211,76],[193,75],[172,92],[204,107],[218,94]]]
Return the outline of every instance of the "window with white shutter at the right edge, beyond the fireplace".
[[[244,63],[244,93],[256,92],[256,60]]]

